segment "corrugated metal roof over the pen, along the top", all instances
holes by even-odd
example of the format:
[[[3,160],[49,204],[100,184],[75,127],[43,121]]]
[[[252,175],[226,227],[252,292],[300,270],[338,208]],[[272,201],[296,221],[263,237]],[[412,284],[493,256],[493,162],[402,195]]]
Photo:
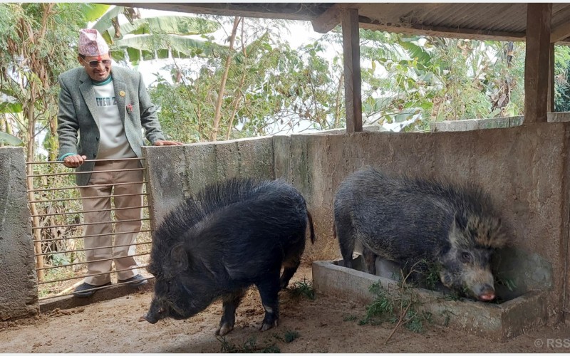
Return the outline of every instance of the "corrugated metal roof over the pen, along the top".
[[[120,4],[168,11],[224,16],[313,21],[323,31],[338,24],[335,9],[358,9],[363,28],[456,38],[524,41],[527,4],[513,3],[139,3]],[[331,14],[332,20],[331,20]],[[328,21],[328,22],[327,22]],[[570,4],[552,6],[552,32],[570,38]],[[329,26],[330,25],[330,26]],[[318,26],[316,26],[317,28]],[[566,27],[569,27],[566,30]],[[560,35],[561,33],[561,35]]]

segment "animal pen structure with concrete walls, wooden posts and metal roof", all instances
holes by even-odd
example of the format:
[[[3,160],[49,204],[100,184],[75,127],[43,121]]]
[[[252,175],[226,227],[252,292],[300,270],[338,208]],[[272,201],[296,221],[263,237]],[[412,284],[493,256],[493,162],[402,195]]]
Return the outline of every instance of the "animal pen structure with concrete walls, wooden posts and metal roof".
[[[509,325],[500,323],[501,330],[489,330],[498,330],[495,336],[502,339],[530,325],[568,318],[570,114],[552,112],[552,93],[554,44],[565,44],[570,36],[569,4],[149,3],[145,7],[306,20],[321,32],[342,24],[347,122],[346,132],[143,147],[150,229],[172,206],[208,182],[229,177],[284,179],[304,195],[314,218],[317,239],[314,246],[307,246],[305,261],[333,260],[340,255],[333,239],[332,202],[348,174],[372,165],[398,174],[450,177],[483,187],[512,233],[514,244],[504,253],[504,272],[517,286],[510,298],[524,300],[519,300],[516,314],[509,314]],[[507,12],[509,21],[504,19]],[[483,120],[487,123],[473,130],[454,125],[450,131],[440,127],[432,132],[363,130],[359,27],[527,41],[524,119]],[[39,313],[46,304],[38,301],[22,148],[0,148],[0,175],[0,320],[9,320]],[[331,271],[343,268],[324,264]],[[314,278],[321,278],[317,290],[346,296],[346,286],[335,289],[333,282],[326,281],[331,271],[321,271],[325,273],[321,277],[314,272]],[[345,274],[338,278],[352,278],[340,271]],[[73,304],[71,297],[62,298]],[[526,313],[529,308],[539,311]],[[518,318],[521,314],[527,318]]]

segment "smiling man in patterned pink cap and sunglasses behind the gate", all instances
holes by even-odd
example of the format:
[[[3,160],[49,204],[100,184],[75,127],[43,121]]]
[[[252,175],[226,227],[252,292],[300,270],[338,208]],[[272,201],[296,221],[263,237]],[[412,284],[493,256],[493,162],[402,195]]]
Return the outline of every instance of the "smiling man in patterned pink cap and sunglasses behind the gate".
[[[137,159],[143,145],[142,128],[152,145],[182,143],[165,140],[140,73],[111,69],[109,48],[97,30],[81,30],[78,48],[81,67],[59,77],[58,160],[84,172],[76,175],[76,182],[86,224],[88,273],[73,295],[88,297],[97,290],[93,288],[110,285],[113,261],[119,283],[134,288],[147,283],[133,257],[142,225],[143,172]]]

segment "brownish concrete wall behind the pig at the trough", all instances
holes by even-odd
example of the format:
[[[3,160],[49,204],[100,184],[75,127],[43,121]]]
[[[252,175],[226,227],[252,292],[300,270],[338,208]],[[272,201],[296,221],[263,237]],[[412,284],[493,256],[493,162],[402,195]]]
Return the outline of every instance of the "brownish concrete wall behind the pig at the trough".
[[[529,280],[526,290],[550,288],[549,315],[558,318],[567,293],[569,138],[566,123],[471,132],[275,137],[275,172],[309,202],[317,234],[316,245],[306,252],[311,260],[340,256],[333,239],[334,193],[348,174],[366,164],[480,184],[502,211],[515,251],[528,257],[515,266],[515,277]],[[538,276],[533,276],[535,266]]]

